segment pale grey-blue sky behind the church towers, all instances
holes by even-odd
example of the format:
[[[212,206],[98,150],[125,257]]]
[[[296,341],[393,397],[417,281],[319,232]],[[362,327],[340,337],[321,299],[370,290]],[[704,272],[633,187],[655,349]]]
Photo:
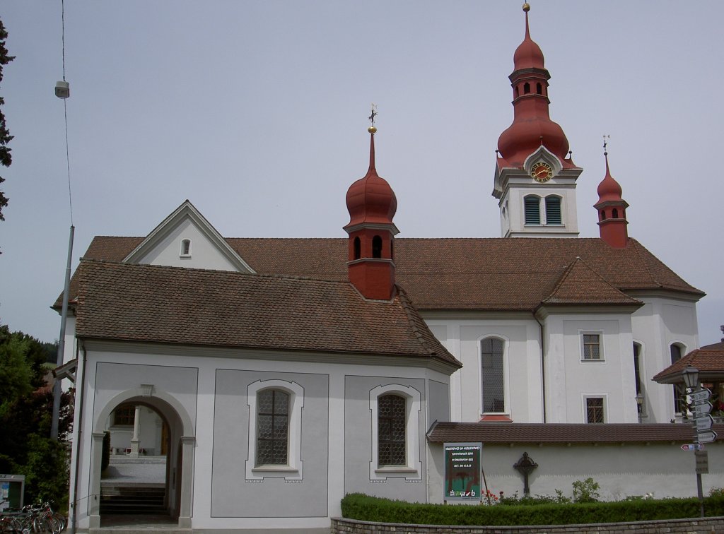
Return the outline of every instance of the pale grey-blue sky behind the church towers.
[[[0,322],[56,339],[70,210],[59,0],[4,0],[17,59],[0,96],[13,164],[0,222]],[[345,192],[377,169],[400,237],[498,237],[497,137],[521,2],[67,0],[74,266],[93,235],[146,235],[189,198],[228,237],[345,237]],[[721,4],[531,2],[552,119],[584,168],[598,235],[602,135],[629,234],[686,281],[702,344],[724,324]],[[713,159],[712,159],[713,158]],[[441,258],[443,260],[444,258]]]

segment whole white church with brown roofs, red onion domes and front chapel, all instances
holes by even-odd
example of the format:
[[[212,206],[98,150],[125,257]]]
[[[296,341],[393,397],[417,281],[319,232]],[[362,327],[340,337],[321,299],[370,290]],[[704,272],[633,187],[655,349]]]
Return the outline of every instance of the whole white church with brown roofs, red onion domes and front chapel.
[[[347,237],[224,237],[186,200],[145,237],[91,242],[66,344],[81,532],[101,525],[109,430],[114,452],[167,455],[180,532],[321,533],[345,493],[439,501],[436,423],[502,442],[523,436],[518,423],[681,418],[675,387],[651,379],[698,347],[704,293],[628,237],[635,206],[607,154],[599,200],[580,212],[600,237],[578,237],[583,169],[550,118],[528,9],[494,162],[499,238],[397,237],[373,124]],[[141,409],[159,421],[146,444],[127,424]]]

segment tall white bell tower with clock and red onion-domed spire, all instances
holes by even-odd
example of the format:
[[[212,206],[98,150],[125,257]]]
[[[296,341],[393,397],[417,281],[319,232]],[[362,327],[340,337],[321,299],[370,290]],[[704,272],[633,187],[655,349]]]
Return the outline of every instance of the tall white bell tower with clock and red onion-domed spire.
[[[550,119],[543,52],[526,35],[513,55],[513,124],[498,138],[492,195],[502,237],[578,237],[576,179],[563,128]]]

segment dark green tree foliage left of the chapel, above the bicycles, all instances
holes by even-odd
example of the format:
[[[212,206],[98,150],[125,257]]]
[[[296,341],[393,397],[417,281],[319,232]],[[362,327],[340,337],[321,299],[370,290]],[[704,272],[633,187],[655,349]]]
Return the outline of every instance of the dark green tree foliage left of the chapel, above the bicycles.
[[[46,386],[49,347],[0,326],[0,472],[25,475],[25,501],[67,503],[67,436],[72,398],[64,393],[60,441],[50,435],[53,391]],[[62,509],[62,508],[61,508]]]

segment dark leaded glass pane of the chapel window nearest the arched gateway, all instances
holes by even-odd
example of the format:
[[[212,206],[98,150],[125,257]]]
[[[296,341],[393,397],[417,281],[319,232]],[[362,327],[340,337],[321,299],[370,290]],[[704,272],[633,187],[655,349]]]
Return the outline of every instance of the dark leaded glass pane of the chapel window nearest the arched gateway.
[[[256,397],[256,465],[288,465],[289,394],[264,389]]]

